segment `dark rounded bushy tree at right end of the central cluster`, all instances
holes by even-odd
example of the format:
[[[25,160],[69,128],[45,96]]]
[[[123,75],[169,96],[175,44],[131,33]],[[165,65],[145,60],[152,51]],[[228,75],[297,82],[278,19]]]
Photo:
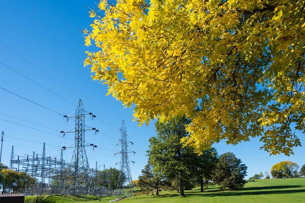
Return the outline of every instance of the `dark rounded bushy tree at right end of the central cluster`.
[[[247,166],[242,164],[231,152],[220,155],[217,168],[213,174],[213,182],[218,184],[222,190],[240,190],[246,184]]]

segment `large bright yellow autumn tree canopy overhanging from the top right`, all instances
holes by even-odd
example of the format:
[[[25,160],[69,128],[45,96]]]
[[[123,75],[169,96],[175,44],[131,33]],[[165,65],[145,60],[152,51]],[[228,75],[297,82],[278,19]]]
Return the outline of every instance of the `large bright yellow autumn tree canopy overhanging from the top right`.
[[[100,0],[84,30],[93,80],[135,119],[186,115],[202,151],[260,137],[292,154],[305,127],[305,1]],[[295,129],[294,129],[295,127]]]

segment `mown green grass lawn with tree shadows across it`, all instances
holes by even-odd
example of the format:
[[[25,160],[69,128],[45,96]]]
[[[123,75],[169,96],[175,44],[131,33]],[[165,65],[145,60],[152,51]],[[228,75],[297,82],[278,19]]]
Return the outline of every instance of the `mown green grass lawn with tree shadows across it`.
[[[304,202],[305,199],[305,179],[264,179],[247,182],[241,191],[220,191],[217,187],[212,187],[204,192],[198,188],[185,191],[187,197],[179,197],[175,191],[161,191],[160,196],[138,195],[124,198],[120,202],[136,203],[182,203],[182,202]],[[88,202],[109,202],[117,197],[96,197],[89,196]],[[26,202],[26,201],[25,201]],[[80,197],[75,196],[51,196],[43,203],[71,203],[84,202]]]

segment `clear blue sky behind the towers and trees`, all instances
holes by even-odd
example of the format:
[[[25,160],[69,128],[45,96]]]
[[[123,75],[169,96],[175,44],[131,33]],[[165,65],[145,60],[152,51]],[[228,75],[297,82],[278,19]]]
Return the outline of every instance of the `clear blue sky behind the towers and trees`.
[[[93,132],[85,134],[86,142],[98,146],[94,151],[86,148],[90,167],[95,168],[96,162],[99,169],[104,164],[106,168],[119,167],[116,163],[120,161],[120,156],[114,154],[120,151],[116,144],[120,140],[119,129],[124,120],[127,139],[134,143],[129,145],[130,151],[136,152],[129,155],[130,160],[135,162],[131,164],[131,174],[136,180],[147,164],[145,151],[149,137],[156,134],[155,128],[153,123],[139,127],[137,122],[133,122],[132,109],[123,110],[121,102],[111,96],[106,97],[107,87],[92,81],[89,67],[83,67],[86,59],[84,52],[96,50],[95,47],[84,46],[84,36],[79,31],[90,29],[90,21],[93,20],[89,18],[86,7],[97,6],[91,0],[2,2],[0,133],[5,131],[5,136],[1,161],[9,166],[12,146],[15,155],[32,155],[33,151],[42,154],[44,142],[46,156],[60,157],[63,146],[74,145],[74,133],[63,137],[59,132],[75,125],[72,120],[66,122],[61,115],[73,114],[81,98],[84,109],[97,116],[94,120],[87,117],[86,125],[99,130],[96,135]],[[304,135],[299,134],[299,137],[304,144]],[[280,161],[290,160],[300,167],[305,164],[303,147],[296,148],[295,155],[290,157],[274,157],[259,150],[262,145],[259,138],[252,138],[236,146],[222,141],[214,147],[219,155],[227,151],[235,153],[248,167],[247,177],[270,172],[271,166]],[[72,153],[73,148],[64,151],[67,162],[71,161]]]

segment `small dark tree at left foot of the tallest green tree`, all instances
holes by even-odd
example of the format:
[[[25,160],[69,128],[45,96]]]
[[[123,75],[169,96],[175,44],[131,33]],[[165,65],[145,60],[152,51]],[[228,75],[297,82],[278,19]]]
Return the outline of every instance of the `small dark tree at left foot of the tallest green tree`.
[[[164,176],[160,173],[154,173],[152,165],[147,164],[142,170],[142,176],[139,176],[138,187],[141,188],[142,192],[149,194],[151,191],[156,191],[156,195],[159,196],[159,190],[167,186]]]

